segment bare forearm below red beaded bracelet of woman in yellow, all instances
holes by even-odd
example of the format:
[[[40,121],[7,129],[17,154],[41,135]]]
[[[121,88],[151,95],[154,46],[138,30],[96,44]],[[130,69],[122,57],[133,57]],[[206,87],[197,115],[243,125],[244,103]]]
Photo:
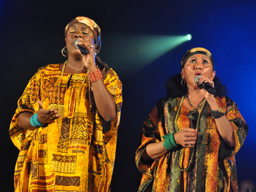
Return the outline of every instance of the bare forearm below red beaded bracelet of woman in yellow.
[[[116,103],[102,79],[92,83],[93,96],[100,115],[108,122],[116,118]]]

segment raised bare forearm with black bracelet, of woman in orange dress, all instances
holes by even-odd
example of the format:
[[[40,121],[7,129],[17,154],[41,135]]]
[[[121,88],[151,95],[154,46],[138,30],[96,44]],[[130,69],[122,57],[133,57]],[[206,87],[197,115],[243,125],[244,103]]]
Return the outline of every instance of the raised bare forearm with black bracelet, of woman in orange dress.
[[[218,111],[218,109],[220,108],[216,102],[216,99],[210,101],[209,105],[214,111]],[[227,116],[224,115],[222,117],[215,119],[215,123],[217,125],[218,132],[221,135],[222,139],[227,143],[228,146],[234,147],[236,144],[235,135],[233,132],[232,124],[230,120],[227,119]]]

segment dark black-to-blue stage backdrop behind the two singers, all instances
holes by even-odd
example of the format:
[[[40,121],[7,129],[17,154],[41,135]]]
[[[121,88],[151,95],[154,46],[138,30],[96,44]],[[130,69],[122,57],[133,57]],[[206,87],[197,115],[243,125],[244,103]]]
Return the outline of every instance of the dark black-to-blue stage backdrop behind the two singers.
[[[180,59],[193,47],[209,49],[217,76],[238,104],[249,133],[236,155],[238,180],[256,180],[255,134],[255,27],[254,0],[70,0],[0,1],[0,191],[13,191],[13,174],[18,150],[9,138],[9,123],[17,100],[42,66],[65,58],[64,28],[77,16],[90,17],[102,30],[102,61],[116,70],[123,83],[123,106],[118,131],[113,192],[137,191],[141,173],[134,155],[143,120],[165,90],[163,82],[180,72]],[[187,41],[154,61],[141,66],[121,57],[126,44],[115,36],[186,35]],[[110,46],[111,45],[111,46]],[[159,47],[155,47],[157,50]],[[153,50],[154,51],[154,50]],[[145,55],[130,55],[145,58]],[[249,86],[250,85],[250,86]]]

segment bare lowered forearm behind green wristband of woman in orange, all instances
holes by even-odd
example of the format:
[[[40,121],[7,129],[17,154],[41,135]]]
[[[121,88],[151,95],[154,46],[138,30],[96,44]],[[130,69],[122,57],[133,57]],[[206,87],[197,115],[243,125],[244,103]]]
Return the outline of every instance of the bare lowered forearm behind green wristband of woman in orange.
[[[150,143],[143,151],[142,158],[144,161],[155,160],[162,157],[167,152],[168,151],[166,151],[165,147],[163,146],[163,141]]]

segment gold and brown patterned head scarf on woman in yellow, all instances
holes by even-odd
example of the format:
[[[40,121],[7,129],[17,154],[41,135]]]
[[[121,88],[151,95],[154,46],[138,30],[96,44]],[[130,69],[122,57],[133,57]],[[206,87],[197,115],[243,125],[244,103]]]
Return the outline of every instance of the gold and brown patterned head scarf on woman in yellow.
[[[84,23],[87,25],[93,32],[94,35],[94,42],[96,44],[96,53],[99,53],[99,49],[101,46],[101,36],[100,36],[100,29],[99,26],[94,22],[94,20],[91,20],[90,18],[87,17],[76,17],[70,23],[67,24],[65,28],[65,38],[67,37],[67,31],[75,23]]]

